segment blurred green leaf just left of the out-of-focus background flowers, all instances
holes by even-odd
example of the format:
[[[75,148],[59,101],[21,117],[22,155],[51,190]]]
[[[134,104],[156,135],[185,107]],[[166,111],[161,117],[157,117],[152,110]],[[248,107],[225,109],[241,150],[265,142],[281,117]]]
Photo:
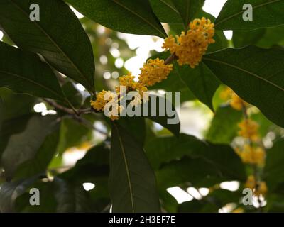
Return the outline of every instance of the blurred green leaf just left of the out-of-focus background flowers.
[[[212,143],[230,144],[237,135],[238,123],[242,117],[241,111],[236,111],[231,106],[220,106],[210,124],[207,140]]]

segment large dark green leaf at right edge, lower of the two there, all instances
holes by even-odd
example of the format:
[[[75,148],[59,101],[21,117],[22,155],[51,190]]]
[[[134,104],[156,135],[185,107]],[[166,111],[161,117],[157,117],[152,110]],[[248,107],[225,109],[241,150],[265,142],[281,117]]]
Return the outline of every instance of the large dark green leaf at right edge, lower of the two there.
[[[203,62],[242,99],[284,126],[283,50],[254,46],[226,49],[205,55]]]

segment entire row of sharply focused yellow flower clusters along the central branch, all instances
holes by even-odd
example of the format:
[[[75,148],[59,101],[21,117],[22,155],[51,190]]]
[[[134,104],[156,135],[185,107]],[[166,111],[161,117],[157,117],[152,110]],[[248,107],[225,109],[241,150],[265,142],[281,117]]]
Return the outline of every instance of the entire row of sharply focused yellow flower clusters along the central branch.
[[[170,50],[177,58],[179,65],[188,64],[190,67],[196,67],[202,60],[202,56],[207,51],[208,45],[214,43],[214,23],[209,19],[195,19],[189,25],[189,30],[182,32],[181,35],[170,36],[165,38],[163,48]],[[148,60],[141,68],[141,74],[138,77],[138,82],[135,77],[129,73],[128,75],[119,77],[119,86],[115,88],[115,92],[102,91],[97,94],[97,99],[91,101],[91,106],[95,111],[111,110],[107,112],[107,116],[112,121],[119,118],[119,114],[124,111],[124,107],[120,105],[121,99],[124,97],[122,93],[136,91],[137,94],[130,102],[131,106],[138,106],[142,101],[148,101],[148,87],[167,79],[170,72],[173,70],[173,65],[165,63],[164,60],[156,58]]]

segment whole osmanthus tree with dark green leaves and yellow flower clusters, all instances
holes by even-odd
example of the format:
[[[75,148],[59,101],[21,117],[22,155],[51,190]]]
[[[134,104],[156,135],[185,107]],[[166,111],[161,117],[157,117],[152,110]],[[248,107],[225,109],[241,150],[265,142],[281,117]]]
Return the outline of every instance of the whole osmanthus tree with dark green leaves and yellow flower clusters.
[[[203,4],[0,1],[1,212],[217,212],[227,204],[236,212],[284,211],[284,1],[228,0],[217,18]],[[32,18],[36,6],[39,18]],[[119,70],[111,87],[101,75],[111,38],[97,41],[97,24],[109,34],[165,38],[166,52],[153,54],[138,80]],[[229,43],[225,30],[234,31]],[[128,104],[137,108],[160,89],[214,112],[205,140],[180,133],[180,123],[169,124],[173,116],[153,106],[163,113],[121,116],[123,92],[136,92]],[[53,111],[35,113],[41,102]],[[166,130],[153,130],[153,122]],[[98,143],[94,131],[105,140]],[[90,144],[75,166],[61,166],[67,148]],[[226,181],[239,189],[220,187]],[[209,193],[178,204],[167,191],[175,186]],[[31,205],[30,189],[39,190],[39,206]]]

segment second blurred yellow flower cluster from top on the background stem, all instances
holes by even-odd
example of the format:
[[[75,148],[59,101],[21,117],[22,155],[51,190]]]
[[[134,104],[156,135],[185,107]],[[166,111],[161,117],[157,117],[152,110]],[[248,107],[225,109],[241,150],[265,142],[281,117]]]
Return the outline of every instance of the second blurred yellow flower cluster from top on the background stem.
[[[251,119],[245,119],[238,124],[240,130],[239,135],[244,138],[248,138],[251,141],[255,142],[258,140],[258,123],[252,121]]]

